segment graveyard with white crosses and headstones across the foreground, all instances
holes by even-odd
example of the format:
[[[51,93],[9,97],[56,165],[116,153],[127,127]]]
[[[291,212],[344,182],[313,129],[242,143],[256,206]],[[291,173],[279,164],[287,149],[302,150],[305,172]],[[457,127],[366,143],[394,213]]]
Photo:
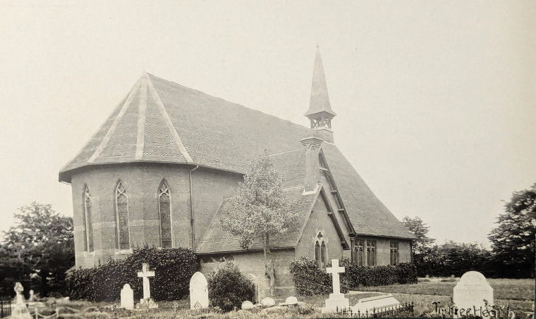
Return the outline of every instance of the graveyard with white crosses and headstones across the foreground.
[[[238,268],[236,268],[238,270]],[[331,260],[326,272],[331,277],[331,294],[259,298],[250,294],[240,306],[221,308],[209,299],[209,280],[194,273],[189,294],[176,301],[154,301],[151,280],[156,272],[142,263],[137,273],[142,282],[142,299],[135,300],[130,284],[124,284],[118,301],[91,302],[65,298],[39,298],[17,282],[8,318],[530,318],[534,285],[531,280],[490,280],[476,271],[461,277],[420,278],[416,284],[357,287],[341,292],[340,275],[345,267]],[[250,278],[243,276],[249,281]],[[252,284],[250,282],[248,284]],[[227,289],[233,287],[227,287]],[[240,287],[234,287],[240,289]],[[252,291],[253,292],[253,291]],[[231,291],[229,291],[231,294]],[[214,294],[211,295],[214,298]]]

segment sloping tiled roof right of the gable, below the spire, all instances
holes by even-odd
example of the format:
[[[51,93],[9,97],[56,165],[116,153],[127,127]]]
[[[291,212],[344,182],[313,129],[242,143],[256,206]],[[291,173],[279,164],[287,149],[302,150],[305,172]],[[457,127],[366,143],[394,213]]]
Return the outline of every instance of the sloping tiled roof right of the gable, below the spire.
[[[322,143],[322,151],[358,235],[415,238],[374,195],[337,146]]]

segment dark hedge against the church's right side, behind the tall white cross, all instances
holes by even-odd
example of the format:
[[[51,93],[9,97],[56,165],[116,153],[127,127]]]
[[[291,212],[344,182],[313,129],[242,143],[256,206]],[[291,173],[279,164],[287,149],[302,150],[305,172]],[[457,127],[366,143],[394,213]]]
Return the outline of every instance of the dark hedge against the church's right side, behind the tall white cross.
[[[411,263],[398,265],[360,266],[352,263],[350,259],[343,258],[339,261],[345,272],[340,274],[341,292],[359,286],[385,286],[389,284],[416,284],[417,269]],[[331,262],[327,264],[331,267]],[[299,296],[311,296],[313,294],[329,294],[333,292],[331,275],[319,268],[317,261],[307,257],[291,262],[296,294]]]

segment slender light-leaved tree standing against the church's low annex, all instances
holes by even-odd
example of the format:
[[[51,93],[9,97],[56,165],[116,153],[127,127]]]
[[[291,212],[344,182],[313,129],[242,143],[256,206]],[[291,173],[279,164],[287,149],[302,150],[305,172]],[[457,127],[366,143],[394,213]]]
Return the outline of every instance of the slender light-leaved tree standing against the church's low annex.
[[[291,209],[296,203],[286,198],[281,178],[266,151],[252,162],[230,204],[231,209],[220,220],[221,230],[238,237],[244,249],[255,240],[264,242],[264,265],[273,296],[275,278],[270,238],[286,234],[296,223],[298,213]]]

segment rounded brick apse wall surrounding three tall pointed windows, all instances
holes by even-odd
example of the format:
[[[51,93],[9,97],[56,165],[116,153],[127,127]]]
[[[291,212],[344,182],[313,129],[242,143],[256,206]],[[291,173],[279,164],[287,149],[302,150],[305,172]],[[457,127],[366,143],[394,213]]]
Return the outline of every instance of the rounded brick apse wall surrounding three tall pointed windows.
[[[131,250],[116,249],[115,189],[118,180],[126,187],[130,246],[160,246],[158,188],[165,178],[171,194],[173,246],[192,247],[190,181],[192,165],[132,163],[98,165],[73,174],[73,221],[76,266],[89,268],[109,258],[126,258]],[[241,176],[220,170],[193,171],[193,203],[196,241],[208,227],[221,199],[236,193]],[[95,251],[85,251],[83,192],[90,189]]]

